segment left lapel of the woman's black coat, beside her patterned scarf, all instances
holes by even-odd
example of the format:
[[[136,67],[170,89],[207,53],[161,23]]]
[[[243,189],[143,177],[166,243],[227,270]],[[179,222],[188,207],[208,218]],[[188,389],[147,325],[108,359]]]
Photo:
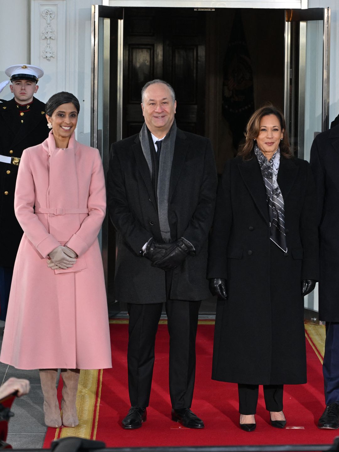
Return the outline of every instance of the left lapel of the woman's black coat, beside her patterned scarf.
[[[242,179],[250,192],[259,212],[269,224],[266,190],[257,158],[238,163]]]

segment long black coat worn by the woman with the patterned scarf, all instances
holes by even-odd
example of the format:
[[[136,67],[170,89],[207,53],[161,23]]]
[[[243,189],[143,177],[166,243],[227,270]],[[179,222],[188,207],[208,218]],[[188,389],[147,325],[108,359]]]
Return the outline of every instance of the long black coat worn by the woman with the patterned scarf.
[[[269,239],[259,163],[226,162],[218,189],[208,278],[227,279],[218,301],[212,378],[244,384],[306,382],[301,279],[318,280],[315,186],[308,162],[281,156],[287,253]]]

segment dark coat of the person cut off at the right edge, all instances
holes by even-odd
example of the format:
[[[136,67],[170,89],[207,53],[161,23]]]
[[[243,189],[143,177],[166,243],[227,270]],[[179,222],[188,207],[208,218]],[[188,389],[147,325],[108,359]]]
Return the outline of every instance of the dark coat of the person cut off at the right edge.
[[[339,322],[339,125],[315,137],[310,163],[318,193],[319,319]]]

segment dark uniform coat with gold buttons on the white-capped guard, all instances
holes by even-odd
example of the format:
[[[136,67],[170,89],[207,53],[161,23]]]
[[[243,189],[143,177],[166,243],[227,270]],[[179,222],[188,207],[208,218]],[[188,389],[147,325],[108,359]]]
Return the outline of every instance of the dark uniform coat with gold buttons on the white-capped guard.
[[[21,157],[24,149],[42,143],[49,129],[45,104],[33,100],[20,123],[14,99],[0,104],[0,154]],[[13,151],[13,152],[10,152]],[[14,190],[19,166],[0,162],[0,266],[13,267],[23,231],[14,214]],[[5,194],[8,192],[8,194]]]

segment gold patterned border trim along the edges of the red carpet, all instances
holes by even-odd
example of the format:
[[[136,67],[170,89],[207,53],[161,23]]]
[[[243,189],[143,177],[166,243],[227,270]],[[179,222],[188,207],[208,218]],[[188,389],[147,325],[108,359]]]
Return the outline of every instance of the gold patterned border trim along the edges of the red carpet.
[[[110,324],[128,324],[128,319],[110,319]],[[199,325],[214,325],[214,320],[199,320]],[[160,325],[166,325],[167,320],[161,319]],[[323,362],[325,348],[325,325],[305,324],[305,335],[315,354]],[[99,420],[99,406],[101,399],[101,387],[103,369],[81,370],[79,386],[76,394],[76,410],[79,417],[77,427],[57,428],[54,439],[75,436],[77,438],[95,439]],[[99,383],[99,389],[98,389]],[[98,389],[98,398],[96,394]],[[91,433],[93,430],[93,436]]]

